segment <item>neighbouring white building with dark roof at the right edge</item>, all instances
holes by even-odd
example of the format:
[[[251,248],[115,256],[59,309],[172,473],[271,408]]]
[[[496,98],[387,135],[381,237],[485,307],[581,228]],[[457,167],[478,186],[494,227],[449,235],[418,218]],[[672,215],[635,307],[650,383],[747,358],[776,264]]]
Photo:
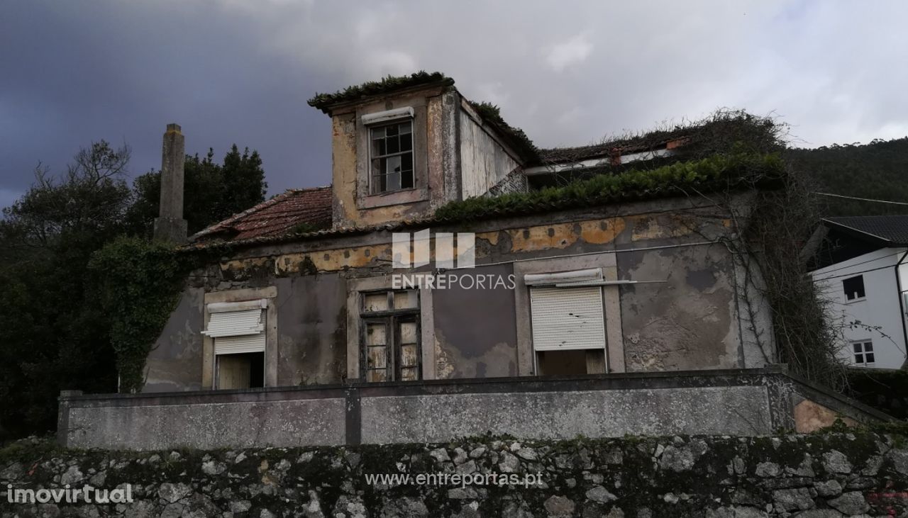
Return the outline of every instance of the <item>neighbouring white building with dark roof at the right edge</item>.
[[[908,309],[908,215],[823,220],[812,275],[854,367],[902,368]]]

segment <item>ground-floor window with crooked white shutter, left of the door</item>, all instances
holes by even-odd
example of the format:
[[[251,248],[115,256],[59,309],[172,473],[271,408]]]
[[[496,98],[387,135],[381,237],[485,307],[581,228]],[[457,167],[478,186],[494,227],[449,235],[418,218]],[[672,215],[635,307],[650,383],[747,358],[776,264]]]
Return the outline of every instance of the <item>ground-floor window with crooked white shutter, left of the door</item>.
[[[219,302],[203,334],[214,340],[214,388],[265,386],[265,311],[267,300]]]

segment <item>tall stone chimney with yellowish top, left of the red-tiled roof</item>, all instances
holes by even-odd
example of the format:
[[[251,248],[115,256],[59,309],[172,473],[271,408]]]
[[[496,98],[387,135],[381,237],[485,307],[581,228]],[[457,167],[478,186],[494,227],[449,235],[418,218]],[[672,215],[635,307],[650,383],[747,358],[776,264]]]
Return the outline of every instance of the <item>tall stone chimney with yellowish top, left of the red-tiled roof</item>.
[[[161,209],[154,219],[154,239],[174,244],[186,242],[183,220],[183,133],[179,124],[167,124],[161,158]]]

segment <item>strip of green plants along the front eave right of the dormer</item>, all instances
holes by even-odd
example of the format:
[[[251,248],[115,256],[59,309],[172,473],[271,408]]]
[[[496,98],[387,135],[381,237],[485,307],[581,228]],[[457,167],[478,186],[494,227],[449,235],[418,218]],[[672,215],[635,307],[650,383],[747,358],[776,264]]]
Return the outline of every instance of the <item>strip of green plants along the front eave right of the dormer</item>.
[[[684,196],[696,192],[754,189],[781,185],[785,162],[777,153],[735,152],[650,170],[603,174],[586,181],[541,191],[452,201],[435,212],[435,220],[481,220],[596,207],[607,203]]]

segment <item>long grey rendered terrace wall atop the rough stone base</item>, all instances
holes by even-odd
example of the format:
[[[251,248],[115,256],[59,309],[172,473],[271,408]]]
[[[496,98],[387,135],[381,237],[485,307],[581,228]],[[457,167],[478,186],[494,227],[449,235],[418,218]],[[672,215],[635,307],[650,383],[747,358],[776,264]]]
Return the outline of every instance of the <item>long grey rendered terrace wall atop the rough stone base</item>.
[[[535,439],[812,432],[841,416],[887,420],[781,368],[487,378],[84,396],[60,399],[61,445],[173,447],[437,443],[473,435]]]

